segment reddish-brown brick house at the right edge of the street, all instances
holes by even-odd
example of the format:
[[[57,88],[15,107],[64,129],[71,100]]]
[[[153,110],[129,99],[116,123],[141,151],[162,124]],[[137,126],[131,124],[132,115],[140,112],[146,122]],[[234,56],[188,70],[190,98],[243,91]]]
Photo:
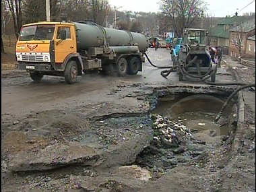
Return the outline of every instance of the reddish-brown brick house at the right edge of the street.
[[[246,54],[247,39],[255,35],[255,19],[230,29],[228,53],[231,57],[249,57]]]

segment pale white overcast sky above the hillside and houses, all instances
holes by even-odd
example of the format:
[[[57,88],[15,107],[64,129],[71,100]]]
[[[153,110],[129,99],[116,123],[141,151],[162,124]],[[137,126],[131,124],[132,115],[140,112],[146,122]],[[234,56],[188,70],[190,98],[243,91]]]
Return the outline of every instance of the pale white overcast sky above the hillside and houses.
[[[116,6],[119,11],[143,11],[157,12],[159,11],[160,0],[108,0],[111,7]],[[255,0],[214,0],[207,2],[207,13],[214,17],[226,17],[226,15],[234,15],[238,11],[238,15],[246,12],[255,12]],[[251,3],[249,5],[249,3]],[[248,6],[247,6],[248,5]],[[247,6],[247,7],[246,7]],[[245,8],[244,8],[245,7]],[[243,9],[244,8],[244,9]]]

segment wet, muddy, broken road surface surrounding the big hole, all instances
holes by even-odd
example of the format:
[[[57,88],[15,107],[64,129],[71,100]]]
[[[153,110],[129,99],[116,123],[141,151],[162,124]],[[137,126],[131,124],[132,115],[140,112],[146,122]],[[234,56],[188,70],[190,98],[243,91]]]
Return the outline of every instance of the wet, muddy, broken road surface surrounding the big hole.
[[[170,51],[166,49],[149,49],[148,56],[154,65],[172,65]],[[150,127],[152,123],[149,112],[152,103],[156,102],[156,95],[183,91],[194,94],[223,94],[232,91],[232,88],[225,90],[223,86],[214,90],[213,86],[203,83],[186,80],[179,82],[176,72],[164,78],[160,75],[162,70],[146,61],[143,71],[134,76],[83,75],[73,85],[67,85],[62,77],[50,76],[44,77],[39,84],[34,84],[28,73],[2,71],[2,190],[126,192],[159,189],[158,191],[169,192],[171,189],[205,192],[221,189],[222,183],[228,181],[224,182],[226,174],[235,170],[224,168],[228,168],[229,153],[232,152],[230,143],[234,139],[235,130],[230,131],[228,137],[223,137],[226,133],[211,135],[212,133],[206,132],[209,130],[199,131],[195,136],[206,143],[210,141],[207,148],[203,146],[207,149],[207,154],[205,156],[205,150],[197,152],[201,159],[189,161],[189,164],[183,161],[181,152],[181,158],[172,160],[175,167],[165,171],[162,163],[166,162],[166,156],[161,154],[166,151],[158,149],[159,161],[154,162],[155,167],[152,169],[144,167],[139,170],[137,166],[130,166],[144,148],[152,147],[153,135],[157,131]],[[223,65],[218,70],[216,82],[233,81],[232,73]],[[247,103],[253,104],[249,101]],[[201,106],[206,104],[204,102]],[[216,111],[218,109],[214,113]],[[229,119],[231,123],[235,123],[236,116],[233,113],[236,112],[232,108]],[[197,122],[197,125],[198,123],[203,122]],[[247,147],[251,142],[252,140],[247,141]],[[245,156],[251,158],[253,154],[248,153],[247,148],[244,150]],[[26,157],[28,154],[29,157]],[[65,159],[61,154],[68,158]],[[38,167],[51,169],[56,163],[59,166],[73,166],[42,173],[15,172],[36,170]],[[85,167],[83,164],[90,166]],[[251,168],[249,160],[247,164]],[[9,172],[10,168],[14,174]],[[249,168],[244,170],[248,172]],[[150,173],[152,175],[149,176]],[[153,181],[148,181],[149,178]],[[253,190],[251,174],[248,178],[244,189]],[[231,183],[235,182],[231,180]],[[223,188],[228,191],[226,184]]]

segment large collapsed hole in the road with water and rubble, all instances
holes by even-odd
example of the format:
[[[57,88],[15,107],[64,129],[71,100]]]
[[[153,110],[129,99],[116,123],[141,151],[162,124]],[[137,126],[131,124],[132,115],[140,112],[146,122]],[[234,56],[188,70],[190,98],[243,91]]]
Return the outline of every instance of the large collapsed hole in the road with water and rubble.
[[[207,92],[207,90],[205,90]],[[158,96],[151,110],[154,139],[135,160],[154,177],[178,164],[206,163],[209,152],[221,146],[232,131],[235,102],[230,102],[220,124],[214,123],[229,94],[173,92]]]

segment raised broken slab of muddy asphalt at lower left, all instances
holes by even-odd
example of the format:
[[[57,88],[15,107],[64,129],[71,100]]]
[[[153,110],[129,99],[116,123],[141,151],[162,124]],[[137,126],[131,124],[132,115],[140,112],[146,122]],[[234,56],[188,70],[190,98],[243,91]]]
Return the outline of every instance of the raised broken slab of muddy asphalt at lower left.
[[[100,156],[88,146],[55,143],[38,150],[9,155],[9,170],[14,172],[50,170],[69,165],[92,166]]]

